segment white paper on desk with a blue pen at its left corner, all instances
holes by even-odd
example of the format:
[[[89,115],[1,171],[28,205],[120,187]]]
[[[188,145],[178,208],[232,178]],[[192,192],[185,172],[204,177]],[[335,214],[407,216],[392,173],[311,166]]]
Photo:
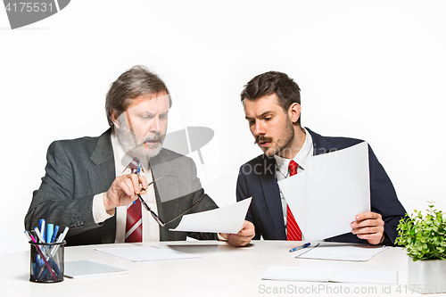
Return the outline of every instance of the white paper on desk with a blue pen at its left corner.
[[[302,249],[294,252],[291,257],[298,259],[343,260],[364,262],[372,259],[378,253],[388,249],[385,245],[358,245],[351,243],[324,244],[320,243],[308,251]]]

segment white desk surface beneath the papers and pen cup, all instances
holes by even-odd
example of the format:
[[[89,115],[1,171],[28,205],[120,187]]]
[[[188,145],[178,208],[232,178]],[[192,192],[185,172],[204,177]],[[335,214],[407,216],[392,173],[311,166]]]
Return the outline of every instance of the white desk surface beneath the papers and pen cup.
[[[200,259],[132,262],[95,247],[159,245],[199,255]],[[2,296],[253,296],[253,295],[417,295],[407,288],[408,256],[401,248],[389,248],[366,262],[304,260],[290,258],[289,249],[300,245],[286,241],[253,241],[235,248],[225,242],[163,242],[86,245],[65,248],[65,261],[97,260],[128,268],[116,276],[65,278],[57,284],[29,282],[29,252],[0,255]],[[262,280],[269,266],[339,266],[363,269],[396,269],[398,285],[288,282]],[[356,291],[355,291],[356,290]],[[358,292],[358,293],[355,293]],[[6,294],[4,294],[6,293]]]

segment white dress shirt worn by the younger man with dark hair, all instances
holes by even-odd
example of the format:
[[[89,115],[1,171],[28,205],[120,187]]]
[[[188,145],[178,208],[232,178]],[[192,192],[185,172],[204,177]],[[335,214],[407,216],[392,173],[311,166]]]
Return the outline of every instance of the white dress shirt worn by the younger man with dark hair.
[[[307,158],[313,155],[313,139],[311,138],[310,133],[305,128],[303,128],[303,130],[305,131],[305,142],[303,143],[301,150],[298,153],[296,153],[296,155],[293,158],[293,161],[295,161],[299,165],[299,167],[297,168],[297,174],[299,174],[299,172],[301,172],[307,168],[307,166],[306,166]],[[288,165],[290,164],[291,160],[282,158],[277,155],[274,155],[274,157],[276,158],[276,163],[277,163],[277,167],[276,167],[277,181],[283,180],[286,177],[289,177],[290,172],[288,169]],[[280,190],[280,187],[279,187],[279,190]],[[284,213],[285,230],[286,230],[286,207],[288,204],[286,203],[286,197],[282,193],[282,190],[280,190],[280,200],[282,201],[282,210]],[[296,220],[297,220],[297,218],[296,218]],[[303,240],[303,234],[302,234],[302,240]]]

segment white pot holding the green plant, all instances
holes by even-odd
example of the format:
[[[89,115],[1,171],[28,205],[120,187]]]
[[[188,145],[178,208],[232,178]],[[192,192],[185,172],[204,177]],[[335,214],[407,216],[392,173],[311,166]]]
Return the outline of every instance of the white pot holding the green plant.
[[[409,258],[408,290],[417,293],[446,293],[446,260]]]

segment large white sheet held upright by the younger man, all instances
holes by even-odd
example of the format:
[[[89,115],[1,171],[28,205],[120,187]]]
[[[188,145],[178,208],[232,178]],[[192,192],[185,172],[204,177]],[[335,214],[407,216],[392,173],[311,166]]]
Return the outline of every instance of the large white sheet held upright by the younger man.
[[[278,182],[306,241],[351,232],[370,211],[368,144],[307,158],[306,169]]]

